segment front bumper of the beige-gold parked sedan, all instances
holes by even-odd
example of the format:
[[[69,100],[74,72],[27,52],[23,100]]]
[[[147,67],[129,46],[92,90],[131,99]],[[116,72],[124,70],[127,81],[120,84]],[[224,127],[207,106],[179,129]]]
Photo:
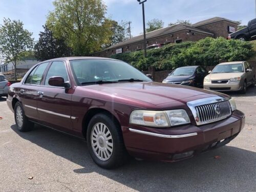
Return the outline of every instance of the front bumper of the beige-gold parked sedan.
[[[241,81],[228,81],[227,83],[204,82],[204,89],[211,91],[240,91],[243,89]]]

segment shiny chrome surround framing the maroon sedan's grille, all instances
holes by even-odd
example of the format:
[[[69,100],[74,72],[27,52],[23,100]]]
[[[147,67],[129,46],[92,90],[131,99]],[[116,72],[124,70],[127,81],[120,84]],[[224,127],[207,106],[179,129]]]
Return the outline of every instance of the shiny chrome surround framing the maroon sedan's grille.
[[[220,97],[220,96],[208,97],[208,98],[189,101],[189,102],[187,102],[187,106],[190,109],[190,111],[192,112],[192,114],[194,116],[194,119],[196,121],[196,118],[198,117],[196,106],[211,104],[211,103],[218,103],[218,102],[228,101],[228,100],[229,100],[229,98]],[[230,111],[231,111],[231,108],[230,108]],[[224,117],[222,119],[225,119],[225,118],[226,117]],[[222,119],[218,119],[216,121],[219,121],[219,120],[222,120]],[[216,121],[212,121],[212,122],[216,122]],[[197,121],[196,121],[196,123],[197,123],[197,125],[206,124],[206,123],[197,122]],[[211,123],[211,122],[209,122],[209,123]]]

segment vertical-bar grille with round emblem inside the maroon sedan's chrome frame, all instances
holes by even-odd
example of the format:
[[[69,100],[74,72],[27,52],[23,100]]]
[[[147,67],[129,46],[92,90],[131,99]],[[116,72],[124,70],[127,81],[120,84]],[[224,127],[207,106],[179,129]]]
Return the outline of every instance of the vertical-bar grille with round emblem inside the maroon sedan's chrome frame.
[[[203,104],[195,106],[195,109],[197,111],[197,117],[199,118],[197,121],[198,124],[219,121],[231,115],[229,101]]]

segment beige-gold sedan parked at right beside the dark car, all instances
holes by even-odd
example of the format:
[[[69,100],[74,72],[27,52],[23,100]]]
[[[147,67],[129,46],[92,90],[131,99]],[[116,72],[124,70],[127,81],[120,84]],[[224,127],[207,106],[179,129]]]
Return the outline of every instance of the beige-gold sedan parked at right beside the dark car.
[[[247,61],[223,62],[204,78],[204,89],[214,91],[240,91],[246,93],[248,86],[254,87],[254,69]]]

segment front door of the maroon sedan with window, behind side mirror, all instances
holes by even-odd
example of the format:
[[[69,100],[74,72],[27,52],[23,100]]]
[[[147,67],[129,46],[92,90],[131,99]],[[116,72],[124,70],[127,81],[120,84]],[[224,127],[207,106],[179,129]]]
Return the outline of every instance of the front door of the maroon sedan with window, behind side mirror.
[[[71,117],[70,90],[61,87],[50,86],[48,80],[53,76],[61,76],[69,81],[65,62],[53,61],[46,74],[42,86],[38,89],[37,111],[39,119],[45,125],[60,131],[69,132],[73,130]]]

